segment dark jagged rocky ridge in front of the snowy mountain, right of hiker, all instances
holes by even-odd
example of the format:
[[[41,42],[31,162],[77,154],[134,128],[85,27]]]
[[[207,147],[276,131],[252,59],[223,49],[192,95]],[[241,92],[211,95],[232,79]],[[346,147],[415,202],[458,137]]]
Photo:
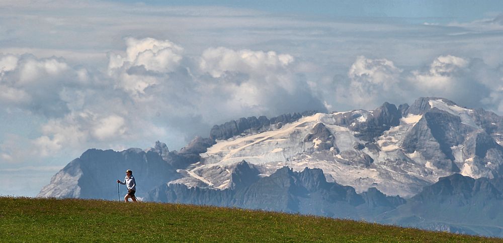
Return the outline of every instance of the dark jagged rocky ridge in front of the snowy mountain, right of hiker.
[[[146,199],[351,218],[370,208],[376,210],[372,213],[380,213],[405,203],[402,198],[386,196],[375,188],[360,195],[353,187],[326,182],[320,169],[294,172],[284,167],[271,176],[258,178],[257,171],[242,161],[233,174],[253,179],[225,190],[164,184],[151,190]]]

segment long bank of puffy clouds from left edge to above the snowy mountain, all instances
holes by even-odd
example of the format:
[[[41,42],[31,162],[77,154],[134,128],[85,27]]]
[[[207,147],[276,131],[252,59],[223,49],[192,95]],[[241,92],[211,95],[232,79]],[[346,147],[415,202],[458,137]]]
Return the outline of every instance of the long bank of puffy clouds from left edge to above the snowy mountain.
[[[124,53],[109,53],[105,73],[62,58],[2,56],[0,102],[43,114],[46,122],[40,136],[23,142],[30,153],[3,143],[1,158],[22,161],[26,154],[118,149],[147,140],[182,147],[229,119],[326,111],[289,54],[210,47],[189,56],[169,40],[125,43]]]

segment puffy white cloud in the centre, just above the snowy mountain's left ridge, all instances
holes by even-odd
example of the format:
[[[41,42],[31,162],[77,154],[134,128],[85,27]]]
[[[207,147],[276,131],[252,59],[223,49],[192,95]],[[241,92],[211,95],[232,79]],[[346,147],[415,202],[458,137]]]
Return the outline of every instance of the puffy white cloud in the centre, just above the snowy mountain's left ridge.
[[[205,80],[206,99],[213,98],[226,113],[238,116],[324,111],[308,81],[297,75],[294,62],[293,56],[274,51],[208,48],[199,59],[199,70],[210,75]]]

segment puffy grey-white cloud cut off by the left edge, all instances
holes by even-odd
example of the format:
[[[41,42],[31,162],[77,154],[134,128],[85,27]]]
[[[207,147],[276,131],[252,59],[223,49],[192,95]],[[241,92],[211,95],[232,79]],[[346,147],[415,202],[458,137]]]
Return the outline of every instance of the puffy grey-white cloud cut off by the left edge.
[[[63,116],[70,110],[60,93],[81,85],[79,76],[60,58],[0,55],[0,103],[46,117]]]

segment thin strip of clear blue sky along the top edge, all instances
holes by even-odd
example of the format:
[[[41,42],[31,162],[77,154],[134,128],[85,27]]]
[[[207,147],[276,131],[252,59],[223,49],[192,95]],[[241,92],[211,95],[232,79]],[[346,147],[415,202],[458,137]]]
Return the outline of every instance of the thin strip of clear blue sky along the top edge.
[[[114,1],[170,6],[223,6],[253,9],[275,15],[316,18],[389,17],[409,21],[435,19],[440,23],[474,21],[501,9],[500,1]],[[417,20],[414,20],[417,19]]]

